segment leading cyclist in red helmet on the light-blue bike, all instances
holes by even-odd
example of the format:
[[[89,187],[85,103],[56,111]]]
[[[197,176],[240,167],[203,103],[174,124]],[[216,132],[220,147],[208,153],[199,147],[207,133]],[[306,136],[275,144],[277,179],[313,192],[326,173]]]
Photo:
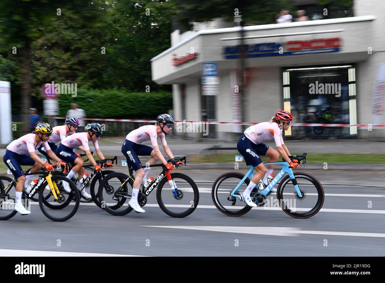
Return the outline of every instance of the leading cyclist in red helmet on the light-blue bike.
[[[262,182],[266,181],[270,174],[273,173],[275,167],[275,165],[272,164],[268,165],[266,169],[261,157],[259,157],[260,155],[270,157],[269,162],[276,162],[281,155],[291,167],[299,167],[298,163],[291,161],[289,157],[291,154],[282,139],[282,131],[289,129],[291,121],[293,121],[293,116],[291,116],[290,112],[280,110],[276,112],[275,117],[271,118],[269,122],[262,122],[248,127],[239,139],[237,144],[238,151],[257,171],[241,195],[243,201],[248,206],[257,206],[250,198],[251,191],[253,191],[256,186],[262,189]],[[274,139],[277,150],[263,143],[271,139]],[[264,176],[263,179],[261,179],[262,176]],[[276,192],[276,189],[273,188],[271,191]]]

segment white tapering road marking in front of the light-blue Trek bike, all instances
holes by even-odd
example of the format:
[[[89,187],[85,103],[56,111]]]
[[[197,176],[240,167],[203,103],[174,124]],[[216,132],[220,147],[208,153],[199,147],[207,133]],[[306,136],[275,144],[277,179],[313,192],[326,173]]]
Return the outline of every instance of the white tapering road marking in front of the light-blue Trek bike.
[[[291,227],[147,226],[147,225],[143,225],[143,227],[189,229],[189,230],[227,232],[227,233],[273,235],[273,236],[299,236],[299,234],[316,234],[316,235],[335,235],[335,236],[358,236],[358,237],[385,238],[385,234],[381,234],[381,233],[337,232],[337,231],[305,231],[305,230],[301,230],[301,228],[291,228]]]

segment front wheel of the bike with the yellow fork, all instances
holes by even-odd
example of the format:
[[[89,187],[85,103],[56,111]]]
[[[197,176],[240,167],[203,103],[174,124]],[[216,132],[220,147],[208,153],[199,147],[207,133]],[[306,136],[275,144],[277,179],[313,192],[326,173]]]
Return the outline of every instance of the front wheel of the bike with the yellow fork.
[[[47,181],[45,181],[39,188],[39,206],[43,214],[47,218],[53,221],[66,221],[75,215],[80,204],[80,193],[79,189],[70,179],[54,175],[51,177],[52,182],[55,182],[60,194],[58,200],[56,200],[51,190],[45,189]],[[66,193],[63,188],[63,183],[67,183],[71,188],[70,193]],[[49,196],[48,199],[46,197]]]

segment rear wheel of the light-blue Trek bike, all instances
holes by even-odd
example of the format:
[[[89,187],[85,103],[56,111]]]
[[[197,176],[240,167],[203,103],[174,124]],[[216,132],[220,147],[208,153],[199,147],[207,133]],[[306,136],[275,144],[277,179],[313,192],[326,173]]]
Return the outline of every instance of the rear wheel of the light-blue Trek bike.
[[[241,173],[229,172],[219,176],[219,178],[214,182],[213,189],[211,190],[211,196],[216,208],[218,208],[221,213],[228,216],[241,216],[250,211],[251,207],[247,206],[246,203],[241,201],[240,198],[234,198],[231,196],[231,192],[235,189],[243,177],[244,175]],[[236,194],[242,194],[249,183],[250,179],[246,178],[236,191]]]

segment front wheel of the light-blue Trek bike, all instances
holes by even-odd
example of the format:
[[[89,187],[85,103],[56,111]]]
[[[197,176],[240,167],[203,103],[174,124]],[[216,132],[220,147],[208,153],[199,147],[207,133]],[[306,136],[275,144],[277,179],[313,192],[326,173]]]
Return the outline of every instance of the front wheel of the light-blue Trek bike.
[[[313,176],[302,173],[294,173],[294,183],[298,184],[302,197],[296,192],[289,176],[280,182],[277,189],[277,199],[280,207],[286,214],[294,218],[309,218],[322,208],[325,194],[322,185]]]

